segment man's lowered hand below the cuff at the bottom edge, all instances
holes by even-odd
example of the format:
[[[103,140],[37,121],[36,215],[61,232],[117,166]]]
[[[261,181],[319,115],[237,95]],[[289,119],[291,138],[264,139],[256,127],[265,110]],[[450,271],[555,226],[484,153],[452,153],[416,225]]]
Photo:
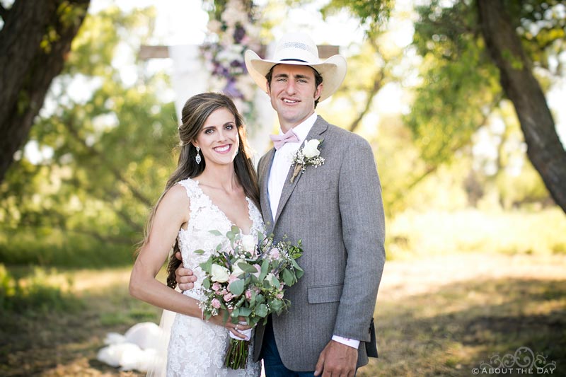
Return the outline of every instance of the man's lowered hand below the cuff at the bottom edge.
[[[358,350],[330,340],[318,356],[315,376],[354,377],[358,361]]]

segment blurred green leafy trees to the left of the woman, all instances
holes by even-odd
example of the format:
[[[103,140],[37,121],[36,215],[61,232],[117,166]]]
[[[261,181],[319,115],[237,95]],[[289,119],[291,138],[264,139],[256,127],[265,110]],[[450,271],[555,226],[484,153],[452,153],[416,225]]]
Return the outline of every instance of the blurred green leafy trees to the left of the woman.
[[[160,95],[169,86],[165,74],[133,65],[143,77],[124,82],[112,61],[117,52],[134,56],[154,16],[152,8],[110,6],[86,17],[29,134],[30,144],[50,153],[30,161],[18,151],[0,184],[0,262],[131,261],[174,169],[177,121]]]

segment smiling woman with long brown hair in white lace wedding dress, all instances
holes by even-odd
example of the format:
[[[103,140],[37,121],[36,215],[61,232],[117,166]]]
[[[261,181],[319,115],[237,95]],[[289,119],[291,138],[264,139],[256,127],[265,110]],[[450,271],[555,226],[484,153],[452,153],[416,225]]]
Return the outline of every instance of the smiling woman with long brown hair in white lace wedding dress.
[[[199,263],[208,259],[232,225],[242,233],[263,229],[258,183],[246,151],[243,120],[232,100],[219,93],[202,93],[187,100],[179,127],[180,156],[175,172],[151,212],[146,236],[137,250],[129,291],[132,296],[177,313],[168,344],[167,376],[260,376],[252,360],[246,369],[226,369],[229,332],[242,339],[247,325],[224,323],[223,313],[202,319],[199,301],[204,274]],[[195,287],[180,293],[156,279],[168,257],[180,251],[185,267],[197,277]],[[193,253],[202,249],[204,255]],[[176,258],[168,266],[168,285],[175,287]]]

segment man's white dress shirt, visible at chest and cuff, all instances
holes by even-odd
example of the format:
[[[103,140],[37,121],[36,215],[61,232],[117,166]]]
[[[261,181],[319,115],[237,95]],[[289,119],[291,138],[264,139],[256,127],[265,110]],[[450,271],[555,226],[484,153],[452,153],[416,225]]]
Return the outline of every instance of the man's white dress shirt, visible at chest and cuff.
[[[303,144],[303,141],[305,141],[308,132],[310,132],[311,128],[313,128],[317,117],[318,115],[316,115],[315,112],[313,115],[306,118],[304,122],[293,127],[293,132],[296,134],[299,142],[286,143],[275,151],[275,156],[273,156],[273,162],[271,164],[270,175],[267,180],[267,195],[269,195],[270,199],[271,214],[273,216],[272,221],[275,221],[275,215],[279,208],[279,200],[281,199],[281,193],[283,192],[283,185],[287,179],[287,174],[289,174],[289,168],[291,168],[292,156]],[[284,132],[279,130],[279,134],[284,134]],[[339,337],[337,335],[333,335],[332,340],[346,344],[347,346],[355,349],[359,347],[359,340]]]

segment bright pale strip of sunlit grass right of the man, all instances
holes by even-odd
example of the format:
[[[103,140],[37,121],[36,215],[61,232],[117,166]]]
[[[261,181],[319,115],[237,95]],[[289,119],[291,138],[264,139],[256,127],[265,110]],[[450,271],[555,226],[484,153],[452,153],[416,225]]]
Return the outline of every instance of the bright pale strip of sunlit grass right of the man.
[[[388,259],[459,252],[566,254],[566,216],[543,211],[405,211],[387,224]]]

